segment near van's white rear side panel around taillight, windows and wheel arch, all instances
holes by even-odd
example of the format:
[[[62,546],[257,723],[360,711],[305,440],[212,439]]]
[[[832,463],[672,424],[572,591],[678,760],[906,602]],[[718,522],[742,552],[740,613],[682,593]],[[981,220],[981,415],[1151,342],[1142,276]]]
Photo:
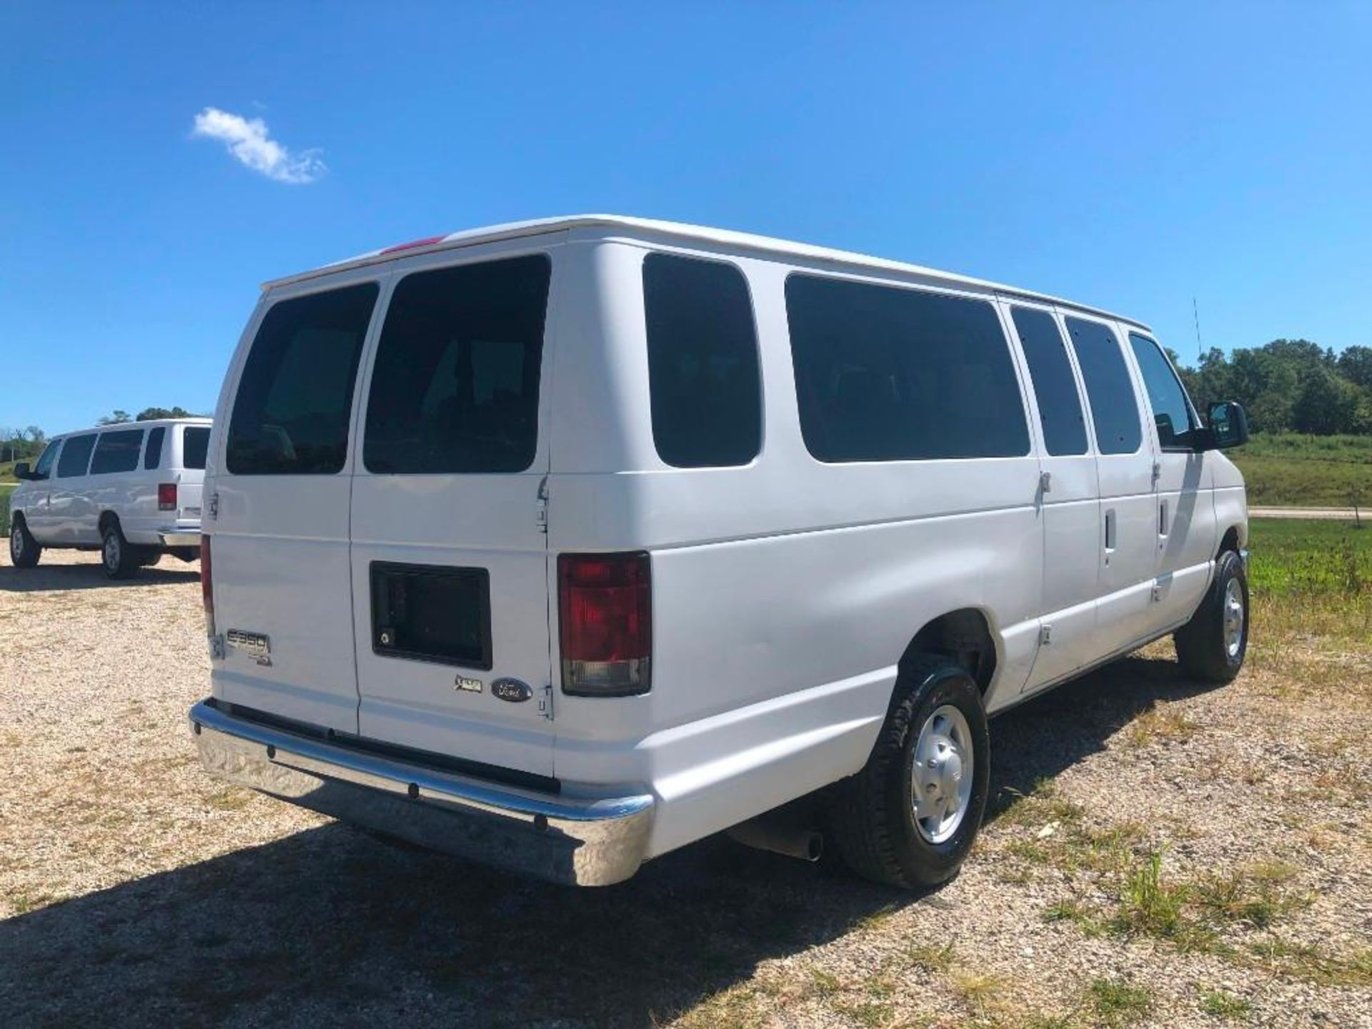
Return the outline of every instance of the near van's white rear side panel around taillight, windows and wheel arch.
[[[858,771],[930,619],[982,612],[1022,682],[1043,572],[1037,458],[816,461],[796,429],[792,269],[735,259],[757,322],[763,450],[742,468],[667,468],[649,431],[643,250],[595,250],[600,325],[560,354],[554,420],[591,390],[597,410],[639,421],[634,443],[604,450],[617,421],[590,421],[565,449],[554,431],[549,543],[650,553],[653,678],[641,697],[557,694],[557,777],[649,783],[661,853]]]

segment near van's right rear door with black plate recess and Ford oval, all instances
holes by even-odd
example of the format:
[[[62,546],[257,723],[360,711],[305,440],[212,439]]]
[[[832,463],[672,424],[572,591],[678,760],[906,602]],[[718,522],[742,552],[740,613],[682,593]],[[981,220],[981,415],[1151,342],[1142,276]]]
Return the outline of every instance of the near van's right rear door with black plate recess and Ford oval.
[[[395,266],[353,483],[361,734],[534,775],[553,772],[552,252],[512,241]]]

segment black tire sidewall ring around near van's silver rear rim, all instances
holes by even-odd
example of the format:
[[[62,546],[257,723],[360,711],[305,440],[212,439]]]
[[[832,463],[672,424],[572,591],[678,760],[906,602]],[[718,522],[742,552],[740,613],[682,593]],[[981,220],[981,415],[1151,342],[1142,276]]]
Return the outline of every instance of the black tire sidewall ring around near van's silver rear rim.
[[[908,720],[906,737],[900,748],[899,764],[893,763],[888,783],[886,803],[892,805],[890,825],[900,827],[897,855],[904,874],[926,886],[944,882],[956,874],[981,827],[986,808],[986,794],[991,785],[991,733],[986,726],[986,712],[981,690],[966,671],[948,665],[929,675],[914,687],[906,700]],[[919,742],[919,731],[934,711],[949,704],[967,719],[973,737],[973,786],[958,831],[941,844],[932,844],[919,831],[911,803],[911,778],[914,772],[914,748]]]

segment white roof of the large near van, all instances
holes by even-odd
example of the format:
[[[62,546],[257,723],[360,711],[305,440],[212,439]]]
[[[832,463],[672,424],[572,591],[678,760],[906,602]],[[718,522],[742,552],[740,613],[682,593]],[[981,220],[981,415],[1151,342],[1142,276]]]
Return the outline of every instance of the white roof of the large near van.
[[[339,261],[332,265],[325,265],[324,268],[317,268],[310,272],[302,272],[300,274],[285,276],[283,279],[273,279],[268,283],[263,283],[262,288],[272,289],[279,285],[299,283],[307,279],[316,279],[318,276],[331,274],[333,272],[342,272],[350,268],[361,268],[364,265],[375,265],[386,261],[395,261],[402,257],[410,257],[413,254],[424,254],[435,250],[471,247],[477,243],[493,243],[497,240],[517,239],[520,236],[541,236],[550,232],[564,232],[571,229],[586,229],[591,230],[591,233],[602,232],[605,236],[623,235],[623,236],[630,236],[635,240],[653,239],[653,240],[668,240],[678,243],[681,241],[704,243],[711,247],[735,252],[767,254],[782,258],[790,257],[790,258],[800,258],[807,262],[814,261],[814,262],[827,262],[836,265],[851,265],[881,272],[895,272],[899,274],[919,276],[922,279],[941,280],[951,285],[971,287],[974,289],[982,289],[982,291],[996,291],[1002,294],[1011,294],[1014,296],[1021,296],[1030,300],[1056,303],[1065,307],[1074,307],[1081,311],[1100,314],[1107,318],[1117,318],[1120,321],[1126,321],[1132,325],[1139,325],[1140,328],[1144,329],[1148,328],[1147,325],[1144,325],[1144,322],[1136,318],[1129,318],[1122,314],[1114,314],[1111,311],[1078,303],[1076,300],[1066,300],[1058,296],[1050,296],[1048,294],[1040,294],[1033,289],[1021,289],[1019,287],[1014,285],[1003,285],[1000,283],[986,281],[985,279],[973,279],[970,276],[962,276],[954,272],[940,272],[938,269],[925,268],[922,265],[910,265],[903,261],[888,261],[886,258],[875,258],[875,257],[868,257],[866,254],[855,254],[847,250],[831,250],[829,247],[816,247],[809,243],[793,243],[790,240],[774,239],[771,236],[755,236],[753,233],[749,232],[733,232],[730,229],[709,229],[702,225],[686,225],[682,222],[656,221],[652,218],[630,218],[619,214],[572,214],[561,218],[535,218],[532,221],[512,221],[504,225],[490,225],[482,229],[464,229],[462,232],[453,232],[449,233],[447,236],[431,236],[428,239],[416,240],[414,243],[402,243],[394,247],[373,250],[369,254],[358,254],[357,257],[348,258],[346,261]]]

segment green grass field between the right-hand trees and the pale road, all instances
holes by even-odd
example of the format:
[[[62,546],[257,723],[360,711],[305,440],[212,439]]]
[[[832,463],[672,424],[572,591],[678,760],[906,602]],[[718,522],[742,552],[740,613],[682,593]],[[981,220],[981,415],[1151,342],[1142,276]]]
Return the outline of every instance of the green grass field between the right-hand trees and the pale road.
[[[1228,451],[1254,506],[1349,508],[1372,505],[1372,436],[1258,434]]]

